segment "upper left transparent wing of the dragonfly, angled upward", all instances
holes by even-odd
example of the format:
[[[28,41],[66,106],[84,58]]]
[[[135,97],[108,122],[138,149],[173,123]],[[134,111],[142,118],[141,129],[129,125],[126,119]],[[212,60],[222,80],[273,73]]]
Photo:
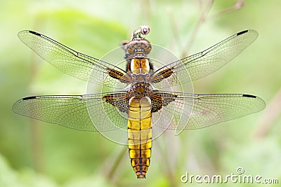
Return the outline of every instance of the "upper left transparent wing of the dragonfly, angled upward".
[[[22,31],[18,33],[18,38],[46,62],[75,78],[110,88],[119,88],[120,82],[129,80],[126,72],[119,67],[78,53],[43,34]]]

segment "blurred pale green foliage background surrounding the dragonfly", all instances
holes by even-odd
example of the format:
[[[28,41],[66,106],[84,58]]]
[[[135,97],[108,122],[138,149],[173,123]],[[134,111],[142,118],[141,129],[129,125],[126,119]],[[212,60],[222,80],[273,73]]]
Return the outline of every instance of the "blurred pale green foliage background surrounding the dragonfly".
[[[235,0],[213,1],[208,8],[209,2],[2,0],[0,186],[197,186],[182,183],[181,175],[237,174],[237,167],[281,183],[281,1],[244,1],[239,10],[233,8]],[[194,88],[198,93],[258,95],[267,103],[251,116],[178,137],[163,134],[154,141],[145,180],[136,179],[126,147],[98,132],[70,130],[11,111],[13,102],[29,95],[86,93],[86,82],[61,73],[22,44],[20,30],[46,34],[99,58],[140,25],[150,26],[152,43],[178,57],[256,29],[259,38],[247,50],[195,81]]]

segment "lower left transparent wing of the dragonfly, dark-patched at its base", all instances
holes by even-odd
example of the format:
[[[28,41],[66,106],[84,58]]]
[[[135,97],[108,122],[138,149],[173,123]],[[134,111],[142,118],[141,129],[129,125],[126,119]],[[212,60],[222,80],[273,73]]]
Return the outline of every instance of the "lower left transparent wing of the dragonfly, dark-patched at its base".
[[[126,112],[123,110],[124,107],[128,108],[126,103],[126,92],[95,95],[46,95],[20,99],[13,104],[13,111],[22,116],[75,130],[107,131],[127,125],[126,118],[120,115],[120,113]],[[96,119],[95,125],[91,120],[93,118]]]

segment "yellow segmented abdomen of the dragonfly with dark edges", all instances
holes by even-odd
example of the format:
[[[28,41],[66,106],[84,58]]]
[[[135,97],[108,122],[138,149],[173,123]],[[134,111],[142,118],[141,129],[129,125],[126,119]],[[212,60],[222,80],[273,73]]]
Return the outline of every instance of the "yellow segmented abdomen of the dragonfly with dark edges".
[[[152,147],[151,101],[132,97],[129,101],[128,143],[131,165],[138,178],[145,178]]]

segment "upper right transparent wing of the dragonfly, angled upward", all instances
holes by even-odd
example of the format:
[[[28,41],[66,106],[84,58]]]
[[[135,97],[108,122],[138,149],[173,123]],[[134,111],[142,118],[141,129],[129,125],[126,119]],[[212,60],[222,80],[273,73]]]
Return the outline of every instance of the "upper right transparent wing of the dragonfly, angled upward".
[[[159,83],[165,79],[165,84],[156,84],[157,88],[162,89],[186,83],[190,81],[190,78],[191,81],[200,79],[214,73],[214,71],[223,67],[230,60],[233,60],[242,50],[253,43],[257,37],[258,32],[254,30],[245,30],[234,34],[207,50],[158,69],[152,74],[151,81]],[[190,78],[188,78],[187,72]]]

